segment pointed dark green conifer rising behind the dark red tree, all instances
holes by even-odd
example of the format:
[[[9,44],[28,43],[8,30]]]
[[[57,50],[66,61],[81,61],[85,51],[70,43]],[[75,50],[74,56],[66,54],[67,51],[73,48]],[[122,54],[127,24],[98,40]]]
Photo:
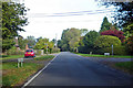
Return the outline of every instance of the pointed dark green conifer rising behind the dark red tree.
[[[100,33],[110,30],[110,28],[111,28],[111,23],[108,21],[108,18],[104,16],[103,22],[101,24]]]

